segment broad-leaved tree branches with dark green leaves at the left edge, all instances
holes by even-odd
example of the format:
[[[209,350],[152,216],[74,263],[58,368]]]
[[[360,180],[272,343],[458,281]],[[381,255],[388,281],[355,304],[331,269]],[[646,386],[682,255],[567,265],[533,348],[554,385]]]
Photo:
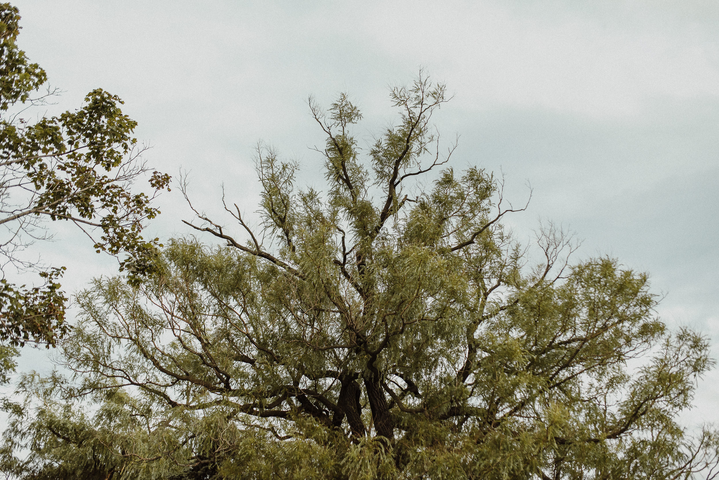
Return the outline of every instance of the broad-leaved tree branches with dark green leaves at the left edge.
[[[17,47],[19,19],[16,7],[0,4],[0,341],[50,346],[68,329],[58,282],[65,267],[27,261],[21,252],[52,236],[45,219],[65,220],[88,234],[98,252],[126,253],[120,267],[133,278],[150,272],[157,239],[145,241],[142,227],[157,215],[150,202],[170,177],[152,172],[154,193],[132,193],[132,183],[150,172],[139,158],[144,148],[132,138],[137,122],[122,114],[119,97],[100,88],[76,111],[23,118],[58,92],[47,88],[32,96],[47,84],[47,74]],[[101,231],[99,238],[93,231]],[[8,267],[38,272],[43,285],[9,282]]]

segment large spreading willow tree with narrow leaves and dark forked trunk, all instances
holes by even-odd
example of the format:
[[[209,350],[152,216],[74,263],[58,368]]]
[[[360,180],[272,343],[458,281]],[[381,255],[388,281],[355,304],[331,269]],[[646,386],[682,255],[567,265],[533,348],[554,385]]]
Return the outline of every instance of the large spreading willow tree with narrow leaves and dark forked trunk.
[[[260,144],[262,231],[198,213],[139,285],[95,280],[63,341],[74,377],[24,377],[4,470],[26,479],[714,478],[717,434],[677,423],[713,362],[656,318],[646,274],[570,263],[548,226],[531,260],[502,183],[449,160],[420,76],[366,150],[341,95],[328,187]],[[432,178],[432,177],[429,177]],[[377,198],[379,200],[377,200]],[[269,239],[266,242],[262,239]],[[536,263],[536,264],[535,264]],[[12,453],[29,450],[25,460]]]

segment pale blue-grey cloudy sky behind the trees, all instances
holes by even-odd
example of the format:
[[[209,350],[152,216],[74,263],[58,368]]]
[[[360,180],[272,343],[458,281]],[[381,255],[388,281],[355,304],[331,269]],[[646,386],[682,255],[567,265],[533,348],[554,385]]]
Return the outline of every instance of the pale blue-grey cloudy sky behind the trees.
[[[124,99],[145,159],[221,212],[220,187],[248,213],[258,201],[253,147],[301,161],[322,188],[324,138],[309,116],[347,91],[365,114],[360,145],[395,115],[388,86],[425,67],[454,99],[434,118],[460,135],[453,165],[503,172],[520,240],[539,219],[583,239],[577,259],[608,254],[650,272],[659,314],[714,338],[719,357],[719,2],[682,1],[15,1],[20,47],[64,93]],[[150,235],[188,234],[179,189],[158,201]],[[229,225],[229,221],[227,221]],[[239,236],[239,230],[236,231]],[[206,238],[206,241],[211,241]],[[70,291],[116,264],[60,226],[41,246],[68,267]],[[26,349],[20,369],[47,371]],[[700,382],[685,420],[719,423],[719,373]]]

